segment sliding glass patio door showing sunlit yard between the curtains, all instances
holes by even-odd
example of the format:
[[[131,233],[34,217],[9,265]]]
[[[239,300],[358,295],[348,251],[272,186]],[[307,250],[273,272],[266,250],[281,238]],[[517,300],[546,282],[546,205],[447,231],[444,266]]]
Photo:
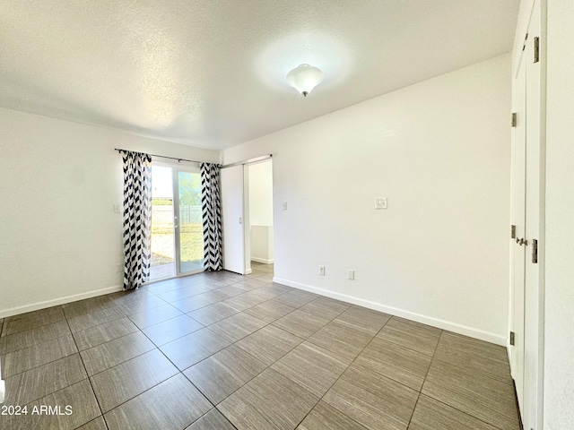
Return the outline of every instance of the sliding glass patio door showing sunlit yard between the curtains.
[[[203,270],[204,234],[199,171],[152,166],[150,280]]]

